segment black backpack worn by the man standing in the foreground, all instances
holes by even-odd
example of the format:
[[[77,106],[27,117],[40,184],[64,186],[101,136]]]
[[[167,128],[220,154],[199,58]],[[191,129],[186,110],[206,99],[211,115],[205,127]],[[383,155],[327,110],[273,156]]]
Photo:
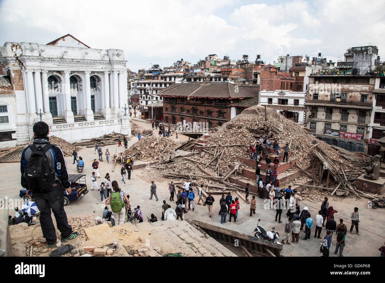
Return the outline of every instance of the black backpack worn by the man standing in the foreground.
[[[55,182],[55,173],[49,165],[45,152],[54,147],[54,144],[35,146],[31,144],[32,150],[30,159],[27,161],[24,170],[24,178],[28,184],[28,189],[35,192],[49,191]],[[64,164],[63,164],[64,165]]]

